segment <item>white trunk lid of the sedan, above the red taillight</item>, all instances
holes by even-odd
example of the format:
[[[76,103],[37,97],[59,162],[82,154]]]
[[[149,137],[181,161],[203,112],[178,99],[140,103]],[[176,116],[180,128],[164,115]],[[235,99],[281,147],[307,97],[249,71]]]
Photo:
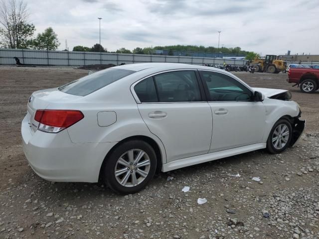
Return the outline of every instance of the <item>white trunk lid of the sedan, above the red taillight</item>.
[[[49,104],[67,103],[82,98],[59,91],[58,88],[35,91],[29,97],[27,104],[27,119],[33,134],[38,128],[38,122],[34,120],[36,110],[45,110]]]

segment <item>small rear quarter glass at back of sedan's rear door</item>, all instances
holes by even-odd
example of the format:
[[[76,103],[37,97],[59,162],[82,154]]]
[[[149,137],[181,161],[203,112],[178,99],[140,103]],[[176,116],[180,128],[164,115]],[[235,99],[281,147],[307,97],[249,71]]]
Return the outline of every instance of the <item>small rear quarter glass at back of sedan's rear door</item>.
[[[152,103],[158,102],[158,96],[156,94],[156,88],[153,77],[149,77],[139,82],[135,87],[134,91],[139,97],[141,103]]]

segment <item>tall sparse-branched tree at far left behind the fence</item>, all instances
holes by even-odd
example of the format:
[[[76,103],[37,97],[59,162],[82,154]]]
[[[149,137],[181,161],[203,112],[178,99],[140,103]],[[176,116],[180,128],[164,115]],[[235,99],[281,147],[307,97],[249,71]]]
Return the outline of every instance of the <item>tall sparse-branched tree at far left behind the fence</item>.
[[[23,0],[0,0],[0,45],[27,48],[35,27],[27,23],[27,5]]]

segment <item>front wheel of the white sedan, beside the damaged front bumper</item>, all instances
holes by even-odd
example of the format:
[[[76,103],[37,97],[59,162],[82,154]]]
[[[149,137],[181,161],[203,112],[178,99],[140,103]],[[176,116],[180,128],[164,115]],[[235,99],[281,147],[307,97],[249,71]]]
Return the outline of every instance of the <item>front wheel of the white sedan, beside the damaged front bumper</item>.
[[[290,145],[292,135],[291,123],[287,119],[279,119],[270,130],[267,139],[267,150],[273,154],[285,151]]]

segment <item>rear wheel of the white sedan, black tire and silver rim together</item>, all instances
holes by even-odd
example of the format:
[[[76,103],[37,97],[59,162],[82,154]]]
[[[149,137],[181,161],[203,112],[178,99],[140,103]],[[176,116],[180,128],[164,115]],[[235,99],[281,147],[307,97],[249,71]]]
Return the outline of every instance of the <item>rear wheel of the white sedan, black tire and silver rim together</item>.
[[[143,156],[138,160],[141,154]],[[120,194],[141,191],[151,181],[157,167],[154,149],[142,140],[130,140],[120,144],[105,160],[103,180],[111,190]],[[141,164],[143,162],[144,164]],[[137,166],[139,163],[141,166]],[[115,175],[116,171],[118,175]]]

